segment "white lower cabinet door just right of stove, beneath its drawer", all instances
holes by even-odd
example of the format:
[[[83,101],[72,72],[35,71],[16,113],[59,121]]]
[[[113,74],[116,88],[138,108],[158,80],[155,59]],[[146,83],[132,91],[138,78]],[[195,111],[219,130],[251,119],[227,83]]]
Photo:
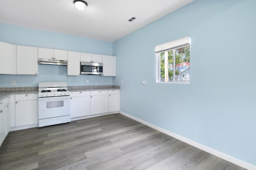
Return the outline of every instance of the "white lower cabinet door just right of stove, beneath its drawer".
[[[70,100],[70,117],[90,115],[90,96],[72,97]]]

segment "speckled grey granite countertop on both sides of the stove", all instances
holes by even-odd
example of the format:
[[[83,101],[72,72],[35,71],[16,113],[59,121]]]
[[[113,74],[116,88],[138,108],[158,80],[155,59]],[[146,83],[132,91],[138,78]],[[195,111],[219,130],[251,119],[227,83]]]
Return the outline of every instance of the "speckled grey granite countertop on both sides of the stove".
[[[93,91],[93,90],[118,90],[120,86],[68,86],[70,92]],[[0,100],[9,97],[12,94],[32,94],[38,93],[38,87],[11,87],[0,88]]]

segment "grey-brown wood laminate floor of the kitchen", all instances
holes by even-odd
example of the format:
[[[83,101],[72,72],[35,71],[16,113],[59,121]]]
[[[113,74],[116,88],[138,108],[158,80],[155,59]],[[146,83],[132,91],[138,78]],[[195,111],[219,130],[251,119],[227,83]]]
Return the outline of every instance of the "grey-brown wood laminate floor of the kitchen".
[[[244,170],[120,114],[13,131],[1,170]]]

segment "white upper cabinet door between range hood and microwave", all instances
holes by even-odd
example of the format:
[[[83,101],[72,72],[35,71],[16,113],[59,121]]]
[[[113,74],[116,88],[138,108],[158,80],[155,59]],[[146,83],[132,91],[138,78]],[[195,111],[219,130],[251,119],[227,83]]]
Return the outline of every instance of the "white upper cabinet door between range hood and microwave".
[[[68,51],[68,76],[79,76],[80,53]]]

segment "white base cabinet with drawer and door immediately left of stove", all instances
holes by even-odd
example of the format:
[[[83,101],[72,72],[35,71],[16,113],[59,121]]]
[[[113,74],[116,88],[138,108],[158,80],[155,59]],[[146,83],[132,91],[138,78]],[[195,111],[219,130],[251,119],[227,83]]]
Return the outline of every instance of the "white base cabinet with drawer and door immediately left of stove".
[[[16,127],[38,123],[37,94],[15,95]]]

